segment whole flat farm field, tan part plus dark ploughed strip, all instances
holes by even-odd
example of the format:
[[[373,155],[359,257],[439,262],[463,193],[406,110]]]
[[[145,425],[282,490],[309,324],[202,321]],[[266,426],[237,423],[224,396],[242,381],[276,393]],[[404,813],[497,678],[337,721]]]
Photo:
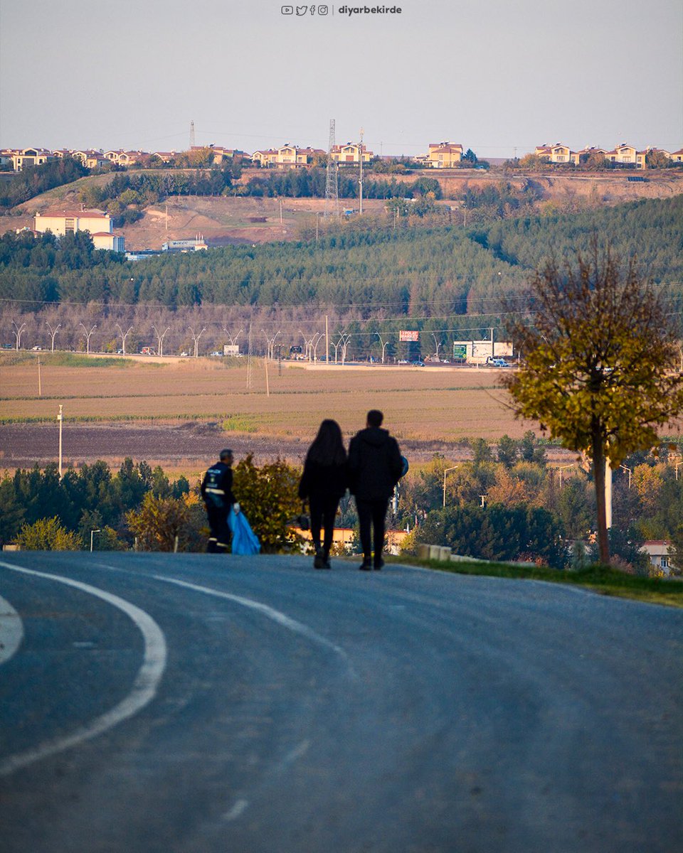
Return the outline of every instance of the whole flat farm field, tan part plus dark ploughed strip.
[[[65,458],[129,455],[194,469],[219,446],[298,461],[324,417],[348,438],[380,408],[413,458],[461,455],[465,439],[521,437],[489,368],[323,366],[247,359],[0,357],[0,467],[55,459],[63,406]],[[68,361],[69,359],[67,359]],[[92,366],[90,366],[90,364]],[[458,450],[459,445],[459,450]]]

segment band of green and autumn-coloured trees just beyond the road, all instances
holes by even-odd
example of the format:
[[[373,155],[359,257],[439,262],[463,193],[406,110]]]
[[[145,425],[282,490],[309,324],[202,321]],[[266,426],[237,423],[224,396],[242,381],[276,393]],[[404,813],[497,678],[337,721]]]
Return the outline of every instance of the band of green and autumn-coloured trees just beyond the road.
[[[473,558],[538,561],[556,569],[598,560],[591,542],[595,493],[581,464],[549,467],[546,447],[532,432],[520,440],[503,436],[494,445],[476,439],[470,450],[470,461],[435,456],[401,480],[390,524],[411,531],[406,553],[430,543]],[[615,473],[610,544],[613,563],[627,572],[657,573],[640,550],[645,540],[668,540],[683,554],[678,458],[664,445],[628,456]],[[281,460],[256,466],[250,456],[235,467],[235,493],[268,551],[300,546],[291,528],[301,511],[300,475],[299,467]],[[92,543],[96,550],[201,551],[207,523],[198,486],[130,458],[117,471],[96,461],[69,468],[62,479],[55,464],[20,469],[0,479],[0,542],[28,549],[89,549]],[[352,498],[342,500],[341,510],[338,525],[357,527]]]

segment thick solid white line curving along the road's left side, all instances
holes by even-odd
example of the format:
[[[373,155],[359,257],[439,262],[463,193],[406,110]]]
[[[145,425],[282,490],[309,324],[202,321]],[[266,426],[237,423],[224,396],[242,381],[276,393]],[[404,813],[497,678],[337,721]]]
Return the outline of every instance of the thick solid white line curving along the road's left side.
[[[10,773],[14,773],[15,770],[40,761],[42,758],[69,749],[71,746],[78,746],[84,740],[90,740],[106,732],[108,728],[118,725],[129,717],[133,717],[145,705],[148,705],[155,698],[156,690],[159,687],[159,682],[161,682],[161,676],[166,669],[166,638],[159,625],[149,616],[149,613],[144,612],[139,607],[131,604],[130,601],[126,601],[118,595],[112,595],[112,593],[108,593],[104,589],[97,589],[97,587],[90,586],[89,583],[74,581],[70,577],[50,575],[46,572],[35,572],[33,569],[12,566],[9,563],[4,563],[2,560],[0,560],[0,566],[10,569],[12,572],[22,572],[26,575],[45,577],[57,583],[66,583],[67,586],[81,589],[89,595],[95,595],[96,598],[107,601],[108,604],[118,607],[119,610],[126,613],[126,616],[131,618],[142,633],[144,640],[143,664],[137,671],[131,692],[128,693],[125,699],[122,699],[118,705],[114,705],[114,708],[100,717],[95,717],[94,720],[86,722],[85,725],[77,728],[72,734],[67,734],[61,738],[54,738],[53,740],[46,740],[33,749],[18,752],[16,755],[4,758],[0,762],[0,776],[7,776]]]

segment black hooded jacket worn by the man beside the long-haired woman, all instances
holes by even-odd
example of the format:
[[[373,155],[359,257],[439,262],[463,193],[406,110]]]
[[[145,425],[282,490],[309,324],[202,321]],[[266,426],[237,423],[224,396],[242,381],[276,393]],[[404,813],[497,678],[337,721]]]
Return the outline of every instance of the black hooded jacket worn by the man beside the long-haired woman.
[[[348,448],[349,488],[361,501],[391,497],[403,471],[396,439],[381,427],[367,427],[351,439]]]

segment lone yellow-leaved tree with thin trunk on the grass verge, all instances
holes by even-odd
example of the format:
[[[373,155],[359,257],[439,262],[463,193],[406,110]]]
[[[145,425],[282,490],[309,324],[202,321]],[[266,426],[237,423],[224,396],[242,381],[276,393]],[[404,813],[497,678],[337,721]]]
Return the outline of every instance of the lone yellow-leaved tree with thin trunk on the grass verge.
[[[554,259],[530,287],[530,318],[508,328],[525,363],[502,377],[518,416],[593,462],[598,548],[609,564],[605,463],[658,443],[657,427],[683,410],[683,377],[670,374],[674,334],[663,300],[593,240],[589,256],[560,270]]]

